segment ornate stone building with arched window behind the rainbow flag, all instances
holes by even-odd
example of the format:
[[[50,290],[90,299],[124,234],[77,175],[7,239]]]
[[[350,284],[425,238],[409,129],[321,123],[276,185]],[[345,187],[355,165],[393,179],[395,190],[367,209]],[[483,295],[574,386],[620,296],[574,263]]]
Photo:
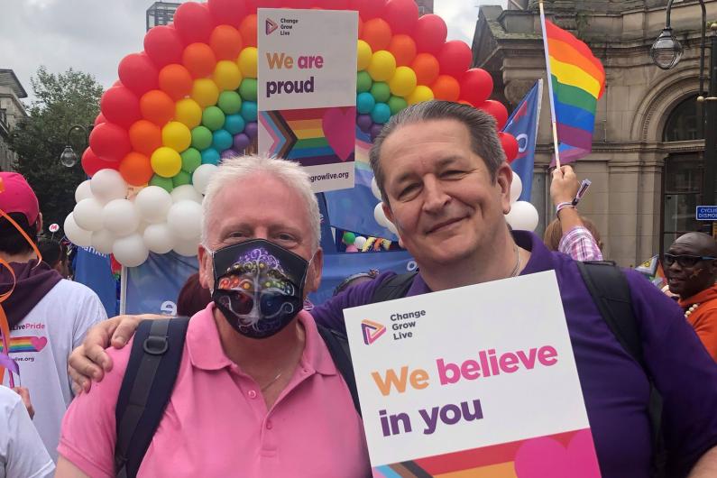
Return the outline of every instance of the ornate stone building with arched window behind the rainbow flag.
[[[585,41],[605,68],[593,152],[575,169],[579,177],[593,181],[581,213],[598,225],[606,256],[624,266],[647,260],[666,249],[677,234],[701,227],[694,220],[694,207],[702,204],[704,169],[695,102],[701,11],[694,1],[673,5],[672,28],[685,53],[674,69],[665,71],[653,64],[649,49],[665,26],[666,4],[546,2],[547,17]],[[708,21],[717,21],[717,0],[704,4]],[[473,64],[491,72],[493,97],[514,107],[537,78],[546,78],[546,69],[538,2],[509,0],[508,5],[507,10],[481,7]],[[541,216],[538,232],[554,217],[546,184],[552,152],[547,87],[543,106],[532,193]]]

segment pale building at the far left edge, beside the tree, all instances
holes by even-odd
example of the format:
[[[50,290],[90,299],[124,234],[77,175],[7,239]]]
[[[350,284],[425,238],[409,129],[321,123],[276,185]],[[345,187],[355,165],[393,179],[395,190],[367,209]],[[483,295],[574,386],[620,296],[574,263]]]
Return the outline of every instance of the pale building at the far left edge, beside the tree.
[[[17,154],[8,146],[8,136],[15,124],[27,117],[20,98],[26,98],[23,85],[12,69],[0,69],[0,170],[14,170]]]

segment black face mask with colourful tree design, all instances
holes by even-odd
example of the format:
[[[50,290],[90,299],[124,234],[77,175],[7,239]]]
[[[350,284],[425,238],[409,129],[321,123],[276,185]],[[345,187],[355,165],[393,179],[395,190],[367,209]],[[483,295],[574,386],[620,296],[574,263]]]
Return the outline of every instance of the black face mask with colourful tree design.
[[[303,257],[264,239],[211,254],[212,299],[229,325],[243,336],[273,336],[303,308],[308,271]]]

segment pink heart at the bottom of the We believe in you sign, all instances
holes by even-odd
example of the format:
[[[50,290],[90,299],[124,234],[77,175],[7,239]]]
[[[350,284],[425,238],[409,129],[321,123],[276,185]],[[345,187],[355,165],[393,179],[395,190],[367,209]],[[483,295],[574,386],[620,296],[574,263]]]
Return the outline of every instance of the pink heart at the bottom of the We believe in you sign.
[[[567,448],[555,438],[526,440],[515,455],[518,478],[600,478],[600,466],[590,430],[580,430]]]

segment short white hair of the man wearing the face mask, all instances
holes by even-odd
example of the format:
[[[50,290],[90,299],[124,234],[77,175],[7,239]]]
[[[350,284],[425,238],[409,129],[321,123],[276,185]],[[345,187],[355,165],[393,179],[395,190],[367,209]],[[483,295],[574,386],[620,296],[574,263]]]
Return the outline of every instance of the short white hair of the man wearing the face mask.
[[[241,181],[254,174],[267,174],[280,179],[288,188],[295,190],[304,201],[307,209],[308,229],[311,233],[311,251],[316,252],[321,240],[321,219],[318,212],[317,197],[311,190],[311,181],[308,173],[298,163],[277,158],[269,158],[257,154],[247,156],[234,156],[226,158],[209,180],[205,192],[204,220],[202,222],[202,244],[207,245],[207,227],[209,212],[212,210],[216,195],[223,188],[241,188]],[[266,191],[271,194],[271,191]],[[226,211],[237,207],[234,204],[225,205]]]

